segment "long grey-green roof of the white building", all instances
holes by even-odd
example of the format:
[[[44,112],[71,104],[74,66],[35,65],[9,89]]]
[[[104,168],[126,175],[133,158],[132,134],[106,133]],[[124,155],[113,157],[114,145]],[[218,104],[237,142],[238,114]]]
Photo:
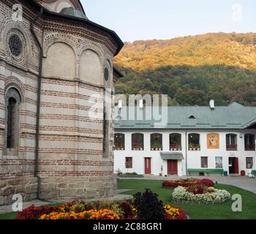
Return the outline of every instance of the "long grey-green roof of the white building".
[[[144,107],[145,108],[145,107]],[[152,109],[159,110],[158,107]],[[246,107],[237,102],[228,106],[215,107],[179,107],[172,106],[159,110],[162,111],[162,120],[154,118],[147,120],[145,109],[141,118],[137,116],[137,107],[122,107],[121,112],[116,107],[116,129],[246,129],[256,124],[256,107]],[[127,112],[127,118],[125,118]],[[153,111],[152,111],[153,112]],[[148,110],[147,110],[148,113]],[[195,118],[189,118],[194,116]],[[152,120],[153,119],[153,120]]]

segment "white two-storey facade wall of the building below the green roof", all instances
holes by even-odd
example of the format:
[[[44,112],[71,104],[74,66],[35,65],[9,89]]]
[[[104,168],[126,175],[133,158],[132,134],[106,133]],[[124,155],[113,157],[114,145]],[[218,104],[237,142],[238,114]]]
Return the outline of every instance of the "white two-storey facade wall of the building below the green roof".
[[[181,134],[181,144],[182,144],[182,153],[186,159],[186,131],[181,130],[154,130],[154,132],[149,130],[143,131],[130,131],[124,130],[120,131],[115,130],[116,133],[124,133],[125,135],[125,150],[124,151],[115,151],[115,161],[114,168],[116,170],[121,170],[123,173],[132,173],[136,172],[138,174],[144,174],[144,158],[151,157],[151,173],[158,176],[161,173],[161,166],[163,166],[163,175],[167,174],[167,161],[162,160],[159,151],[151,151],[150,147],[150,137],[152,133],[161,133],[162,134],[162,143],[163,151],[168,152],[169,150],[169,135],[171,133],[180,133]],[[143,133],[144,134],[144,151],[132,151],[132,134],[133,133]],[[199,169],[201,168],[201,156],[208,157],[208,168],[216,168],[216,156],[222,156],[223,159],[223,169],[229,171],[229,157],[238,157],[239,162],[239,172],[245,170],[246,173],[249,173],[251,169],[246,169],[246,157],[253,157],[255,159],[255,151],[245,151],[244,150],[244,135],[245,134],[256,134],[255,129],[246,129],[243,131],[238,130],[192,130],[187,131],[189,133],[198,133],[200,134],[200,151],[189,151],[187,150],[187,167],[189,169]],[[207,148],[207,135],[208,133],[219,133],[220,146],[219,149],[208,149]],[[237,135],[237,144],[238,151],[226,151],[226,135],[227,134],[236,134]],[[239,135],[243,135],[242,138]],[[132,157],[131,169],[125,168],[125,158]],[[186,160],[178,161],[178,176],[186,175]]]

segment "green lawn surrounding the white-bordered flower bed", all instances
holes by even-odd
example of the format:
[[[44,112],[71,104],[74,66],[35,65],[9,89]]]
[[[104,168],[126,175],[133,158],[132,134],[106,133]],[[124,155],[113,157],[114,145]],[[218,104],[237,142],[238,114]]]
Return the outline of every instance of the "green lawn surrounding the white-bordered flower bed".
[[[256,195],[236,186],[218,184],[217,189],[226,189],[231,195],[239,194],[243,199],[243,211],[233,212],[231,207],[233,200],[228,200],[216,205],[190,205],[176,204],[171,202],[172,189],[162,188],[162,181],[154,180],[120,180],[118,189],[132,189],[124,192],[126,195],[134,195],[136,192],[143,192],[144,189],[151,189],[159,195],[165,203],[176,205],[187,212],[190,219],[256,219]]]

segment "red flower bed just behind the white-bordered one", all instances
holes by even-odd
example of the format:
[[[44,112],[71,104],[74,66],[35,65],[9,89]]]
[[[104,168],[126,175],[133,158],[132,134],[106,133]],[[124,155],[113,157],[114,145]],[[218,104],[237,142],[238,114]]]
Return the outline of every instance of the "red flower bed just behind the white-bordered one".
[[[178,181],[164,181],[162,183],[162,187],[167,187],[167,188],[176,188],[178,186],[183,186],[183,187],[188,187],[191,185],[204,185],[204,186],[209,186],[212,187],[214,186],[214,181],[211,181],[208,178],[203,178],[201,180],[197,178],[189,178],[189,179],[181,179]]]

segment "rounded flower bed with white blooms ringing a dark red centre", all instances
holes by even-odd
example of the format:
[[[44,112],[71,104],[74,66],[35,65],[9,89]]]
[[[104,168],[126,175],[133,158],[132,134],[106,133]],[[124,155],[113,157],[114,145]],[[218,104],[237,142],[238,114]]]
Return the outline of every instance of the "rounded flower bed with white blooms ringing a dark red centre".
[[[223,203],[230,198],[226,190],[214,189],[213,187],[192,188],[178,186],[173,191],[173,202],[176,203]]]

